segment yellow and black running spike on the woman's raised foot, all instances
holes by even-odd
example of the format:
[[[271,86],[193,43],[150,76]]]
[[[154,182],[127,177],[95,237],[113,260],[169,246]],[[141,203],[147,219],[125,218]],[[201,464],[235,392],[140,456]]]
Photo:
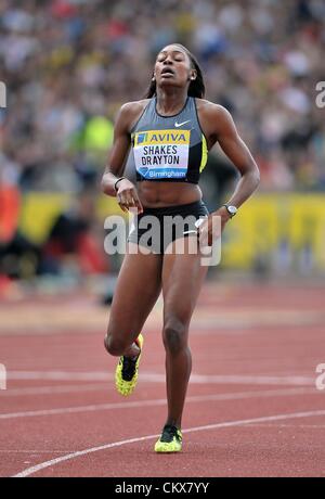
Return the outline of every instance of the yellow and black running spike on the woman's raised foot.
[[[136,344],[141,351],[135,360],[120,357],[115,371],[115,386],[117,392],[125,397],[131,395],[138,382],[139,362],[142,355],[143,336],[139,334]]]

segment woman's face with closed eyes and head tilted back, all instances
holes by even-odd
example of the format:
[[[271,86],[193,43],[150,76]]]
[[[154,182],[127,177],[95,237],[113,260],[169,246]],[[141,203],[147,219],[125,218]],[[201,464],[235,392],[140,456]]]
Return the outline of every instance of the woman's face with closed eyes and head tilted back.
[[[185,87],[196,78],[196,71],[181,47],[167,46],[157,55],[154,77],[158,86]]]

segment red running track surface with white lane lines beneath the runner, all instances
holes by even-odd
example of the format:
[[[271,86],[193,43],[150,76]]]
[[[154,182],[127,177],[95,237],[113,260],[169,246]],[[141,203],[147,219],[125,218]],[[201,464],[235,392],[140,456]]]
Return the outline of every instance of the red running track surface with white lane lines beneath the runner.
[[[160,302],[129,398],[115,393],[107,310],[92,297],[2,303],[0,476],[324,476],[323,295],[205,286],[191,328],[183,452],[170,456],[153,451],[166,417]]]

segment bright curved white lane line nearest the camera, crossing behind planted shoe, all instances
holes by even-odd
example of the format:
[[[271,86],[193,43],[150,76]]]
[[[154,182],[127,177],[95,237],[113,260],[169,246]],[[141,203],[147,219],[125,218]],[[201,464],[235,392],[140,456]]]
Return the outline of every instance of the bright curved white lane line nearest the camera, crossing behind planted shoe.
[[[262,418],[252,418],[252,419],[247,419],[247,420],[237,420],[237,421],[225,421],[223,423],[214,423],[214,424],[207,424],[205,426],[194,426],[192,428],[183,430],[183,433],[192,433],[192,432],[205,432],[209,430],[218,430],[218,428],[225,428],[225,427],[231,427],[231,426],[242,426],[245,424],[249,423],[263,423],[268,421],[283,421],[287,419],[295,419],[295,418],[311,418],[311,417],[316,417],[316,415],[325,415],[325,410],[318,410],[318,411],[309,411],[309,412],[294,412],[290,414],[276,414],[276,415],[266,415]],[[143,437],[136,437],[136,438],[129,438],[127,440],[119,440],[119,442],[113,442],[110,444],[105,444],[99,447],[91,447],[90,449],[84,449],[84,450],[79,450],[77,452],[72,452],[66,456],[61,456],[55,459],[51,459],[50,461],[44,461],[39,464],[36,464],[35,466],[27,468],[23,470],[21,473],[17,473],[14,475],[14,478],[23,478],[25,476],[30,476],[41,470],[44,470],[46,468],[49,466],[54,466],[55,464],[58,464],[64,461],[68,461],[70,459],[76,459],[79,458],[80,456],[86,456],[92,452],[98,452],[100,450],[106,450],[106,449],[112,449],[113,447],[120,447],[122,445],[127,444],[135,444],[138,442],[144,442],[144,440],[151,440],[152,438],[157,438],[159,434],[156,435],[146,435]]]

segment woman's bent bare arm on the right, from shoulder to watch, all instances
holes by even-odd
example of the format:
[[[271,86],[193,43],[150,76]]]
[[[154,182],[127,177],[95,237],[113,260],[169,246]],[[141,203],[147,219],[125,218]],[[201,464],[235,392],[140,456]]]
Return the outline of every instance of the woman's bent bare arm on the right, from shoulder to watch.
[[[260,182],[259,168],[249,152],[249,149],[239,137],[231,114],[221,105],[212,105],[214,133],[222,151],[235,165],[242,175],[235,192],[227,200],[227,204],[237,208],[253,193]]]

